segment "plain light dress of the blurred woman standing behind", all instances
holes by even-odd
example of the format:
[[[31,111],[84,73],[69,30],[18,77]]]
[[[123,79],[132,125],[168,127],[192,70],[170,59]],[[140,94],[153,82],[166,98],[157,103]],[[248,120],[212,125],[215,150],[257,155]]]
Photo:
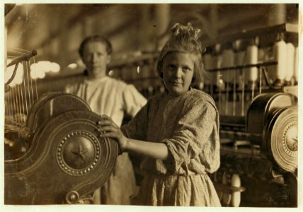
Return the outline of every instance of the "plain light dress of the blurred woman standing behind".
[[[124,114],[134,117],[147,100],[135,86],[106,76],[86,78],[65,88],[65,92],[88,102],[93,112],[106,114],[121,126]],[[113,174],[101,188],[101,204],[129,205],[130,196],[137,192],[135,172],[127,153],[118,156]]]

